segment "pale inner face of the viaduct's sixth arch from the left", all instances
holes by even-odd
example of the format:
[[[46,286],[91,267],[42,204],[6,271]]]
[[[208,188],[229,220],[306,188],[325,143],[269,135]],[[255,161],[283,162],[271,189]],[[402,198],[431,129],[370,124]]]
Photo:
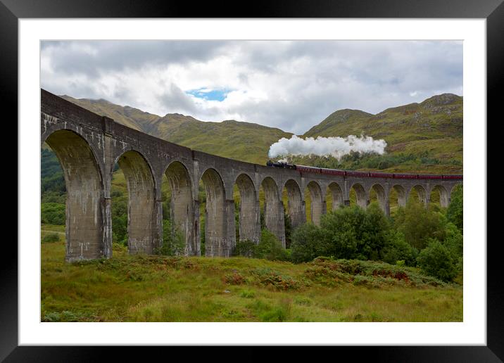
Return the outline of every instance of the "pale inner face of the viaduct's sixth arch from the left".
[[[264,222],[266,228],[277,236],[285,248],[284,206],[277,183],[272,177],[265,177],[260,185],[265,193]]]

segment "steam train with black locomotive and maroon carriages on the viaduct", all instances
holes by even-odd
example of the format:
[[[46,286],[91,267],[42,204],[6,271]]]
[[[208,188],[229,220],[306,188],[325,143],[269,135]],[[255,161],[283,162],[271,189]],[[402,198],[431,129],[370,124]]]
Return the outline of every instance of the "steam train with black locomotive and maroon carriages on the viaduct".
[[[268,160],[266,166],[282,167],[283,169],[298,170],[299,172],[310,172],[315,174],[339,175],[344,177],[372,177],[391,179],[462,179],[460,174],[439,175],[439,174],[404,174],[387,172],[355,172],[353,170],[326,169],[324,167],[309,167],[305,165],[294,165],[288,163],[273,163]]]

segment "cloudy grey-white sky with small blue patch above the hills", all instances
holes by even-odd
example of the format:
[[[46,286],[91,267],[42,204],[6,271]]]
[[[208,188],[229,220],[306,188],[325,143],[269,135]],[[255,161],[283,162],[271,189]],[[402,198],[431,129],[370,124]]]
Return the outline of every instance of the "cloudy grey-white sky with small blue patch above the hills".
[[[303,134],[341,108],[379,113],[462,96],[462,42],[42,42],[41,86],[156,115]]]

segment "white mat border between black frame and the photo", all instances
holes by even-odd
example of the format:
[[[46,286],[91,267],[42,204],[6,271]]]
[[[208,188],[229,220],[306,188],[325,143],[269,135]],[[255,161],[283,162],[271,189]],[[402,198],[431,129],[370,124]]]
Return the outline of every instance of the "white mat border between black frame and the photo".
[[[20,19],[18,27],[19,345],[486,345],[485,19]],[[464,321],[41,323],[39,42],[49,39],[462,39]]]

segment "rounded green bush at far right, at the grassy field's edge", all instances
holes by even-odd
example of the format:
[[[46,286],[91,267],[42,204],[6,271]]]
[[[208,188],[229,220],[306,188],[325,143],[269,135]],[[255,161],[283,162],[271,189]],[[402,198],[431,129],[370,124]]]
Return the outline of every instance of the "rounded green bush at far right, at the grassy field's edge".
[[[457,276],[458,258],[453,252],[436,239],[430,239],[417,257],[420,268],[431,276],[443,281],[452,281]]]

